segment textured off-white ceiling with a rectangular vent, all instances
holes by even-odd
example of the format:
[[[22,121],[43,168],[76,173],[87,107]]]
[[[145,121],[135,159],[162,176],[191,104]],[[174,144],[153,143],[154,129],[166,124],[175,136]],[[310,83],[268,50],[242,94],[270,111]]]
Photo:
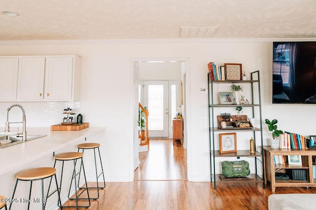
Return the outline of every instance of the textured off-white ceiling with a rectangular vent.
[[[176,39],[180,27],[219,27],[212,38],[316,38],[316,0],[0,0],[0,41]]]

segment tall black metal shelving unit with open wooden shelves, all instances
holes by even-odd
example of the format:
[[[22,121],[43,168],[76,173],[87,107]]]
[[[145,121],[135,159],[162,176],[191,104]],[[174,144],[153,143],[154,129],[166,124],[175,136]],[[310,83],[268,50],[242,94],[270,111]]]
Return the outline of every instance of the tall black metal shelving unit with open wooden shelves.
[[[209,144],[210,144],[210,174],[211,181],[214,183],[214,189],[216,189],[216,182],[221,183],[256,183],[262,182],[263,188],[265,189],[265,172],[264,172],[264,152],[263,152],[263,136],[262,136],[262,114],[261,114],[261,92],[260,92],[260,75],[259,70],[251,72],[250,80],[225,80],[225,81],[213,81],[210,78],[212,77],[211,71],[208,72],[208,119],[209,119]],[[213,85],[220,84],[233,84],[233,83],[250,83],[251,84],[251,99],[249,101],[249,105],[222,105],[222,104],[214,104],[214,95],[217,96],[218,93],[214,94]],[[258,95],[255,95],[258,94]],[[256,96],[256,97],[255,97]],[[260,127],[259,128],[251,128],[251,129],[225,129],[222,130],[217,127],[217,121],[214,122],[214,109],[216,107],[249,107],[252,110],[252,117],[260,118]],[[215,150],[215,133],[219,132],[253,132],[253,139],[255,140],[255,148],[256,151],[254,154],[250,154],[249,150],[238,150],[233,153],[224,153],[221,154],[219,150]],[[259,132],[260,135],[256,135]],[[259,137],[258,137],[259,136]],[[257,138],[258,137],[258,138]],[[260,140],[259,140],[260,139]],[[249,142],[247,142],[249,143]],[[253,157],[255,159],[255,173],[250,174],[248,177],[252,178],[251,180],[221,180],[219,174],[215,174],[216,158],[229,158],[229,157]],[[262,177],[258,175],[258,164],[257,161],[261,162],[262,165]],[[251,163],[249,163],[251,164]]]

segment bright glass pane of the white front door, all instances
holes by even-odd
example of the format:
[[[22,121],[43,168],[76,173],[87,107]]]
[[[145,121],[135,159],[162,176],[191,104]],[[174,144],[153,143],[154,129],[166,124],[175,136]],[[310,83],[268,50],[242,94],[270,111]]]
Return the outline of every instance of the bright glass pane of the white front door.
[[[163,85],[148,85],[148,129],[163,130]]]

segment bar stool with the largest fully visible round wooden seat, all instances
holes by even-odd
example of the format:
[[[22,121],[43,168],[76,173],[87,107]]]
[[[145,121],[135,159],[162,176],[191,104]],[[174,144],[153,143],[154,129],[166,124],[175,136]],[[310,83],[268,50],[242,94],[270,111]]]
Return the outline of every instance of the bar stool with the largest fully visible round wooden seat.
[[[56,190],[54,192],[52,192],[50,195],[48,195],[49,189],[50,189],[50,184],[49,184],[46,197],[44,198],[44,179],[49,178],[49,177],[52,178],[53,176],[55,177]],[[58,205],[59,204],[61,205],[60,192],[59,192],[59,187],[58,187],[57,178],[56,178],[56,169],[51,168],[51,167],[27,169],[27,170],[19,172],[16,175],[16,182],[15,182],[15,187],[13,190],[11,201],[14,201],[14,194],[15,194],[16,187],[18,185],[18,181],[31,181],[30,193],[29,193],[29,201],[30,201],[31,200],[31,192],[32,192],[32,184],[33,184],[33,181],[36,181],[36,180],[41,180],[41,197],[42,197],[42,200],[40,200],[40,202],[42,203],[42,210],[45,209],[47,198],[50,197],[52,194],[54,194],[56,191],[58,193]],[[50,179],[50,181],[51,181],[51,179]],[[13,202],[10,202],[9,210],[11,209],[12,203]],[[30,209],[31,203],[32,202],[28,202],[28,210]],[[32,209],[34,209],[34,208],[32,208]]]

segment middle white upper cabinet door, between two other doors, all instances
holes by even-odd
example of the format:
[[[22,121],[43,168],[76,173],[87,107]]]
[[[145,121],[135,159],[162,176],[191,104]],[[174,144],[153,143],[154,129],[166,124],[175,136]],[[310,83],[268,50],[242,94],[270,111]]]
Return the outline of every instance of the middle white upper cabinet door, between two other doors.
[[[19,100],[42,100],[44,92],[45,57],[21,58]]]

